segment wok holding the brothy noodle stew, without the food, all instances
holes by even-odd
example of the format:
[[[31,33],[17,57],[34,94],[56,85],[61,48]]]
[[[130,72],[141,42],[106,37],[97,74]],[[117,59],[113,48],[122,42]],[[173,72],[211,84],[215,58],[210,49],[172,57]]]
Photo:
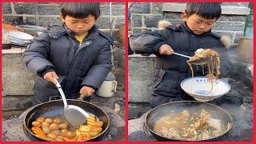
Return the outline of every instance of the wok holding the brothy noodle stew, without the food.
[[[167,114],[173,114],[181,112],[182,110],[189,110],[190,113],[198,113],[200,110],[206,110],[211,114],[212,118],[220,119],[222,121],[222,125],[227,126],[230,123],[230,126],[222,132],[221,135],[218,135],[214,138],[202,139],[202,141],[216,141],[224,137],[227,132],[233,126],[233,119],[226,110],[222,109],[219,106],[215,106],[210,103],[206,102],[197,102],[197,101],[180,101],[180,102],[170,102],[163,104],[161,106],[155,107],[154,109],[150,110],[150,112],[146,115],[145,118],[145,126],[146,130],[150,131],[150,134],[154,136],[158,141],[184,141],[181,139],[170,139],[165,138],[160,134],[154,132],[154,124],[160,118],[166,116]],[[193,141],[193,140],[192,140]],[[195,141],[195,140],[194,140]],[[198,140],[197,140],[198,141]]]

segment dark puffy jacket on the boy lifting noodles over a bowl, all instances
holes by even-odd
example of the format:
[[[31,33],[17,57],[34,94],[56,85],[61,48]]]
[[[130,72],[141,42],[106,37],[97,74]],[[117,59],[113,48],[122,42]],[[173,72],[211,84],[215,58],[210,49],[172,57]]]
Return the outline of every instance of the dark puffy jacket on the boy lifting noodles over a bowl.
[[[191,99],[182,90],[180,83],[185,78],[191,77],[190,68],[186,63],[187,58],[172,54],[161,55],[159,47],[167,44],[180,54],[193,56],[199,48],[212,48],[219,53],[225,51],[220,37],[208,31],[204,34],[194,34],[183,22],[180,26],[168,26],[165,30],[134,34],[129,38],[131,49],[138,54],[157,55],[157,67],[155,72],[154,92],[151,106],[158,106],[171,98],[182,100]],[[221,56],[222,57],[222,56]],[[223,66],[221,58],[221,73],[226,77],[229,67]],[[202,75],[201,66],[194,67],[194,74]],[[156,102],[158,101],[158,102]]]

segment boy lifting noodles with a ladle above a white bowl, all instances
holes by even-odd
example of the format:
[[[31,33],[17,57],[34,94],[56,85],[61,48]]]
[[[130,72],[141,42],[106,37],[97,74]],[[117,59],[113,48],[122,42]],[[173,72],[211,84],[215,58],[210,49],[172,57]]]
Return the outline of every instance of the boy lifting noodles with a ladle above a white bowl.
[[[157,56],[151,107],[178,100],[194,100],[183,92],[180,86],[182,80],[191,77],[190,68],[186,63],[188,59],[173,52],[190,56],[199,48],[220,52],[223,44],[220,37],[211,32],[211,28],[221,12],[219,3],[189,2],[182,13],[184,22],[180,26],[168,26],[164,30],[134,34],[130,37],[130,47],[135,53]],[[202,70],[198,68],[194,67],[195,76],[202,75]],[[227,67],[222,65],[221,68],[221,74],[225,77]]]

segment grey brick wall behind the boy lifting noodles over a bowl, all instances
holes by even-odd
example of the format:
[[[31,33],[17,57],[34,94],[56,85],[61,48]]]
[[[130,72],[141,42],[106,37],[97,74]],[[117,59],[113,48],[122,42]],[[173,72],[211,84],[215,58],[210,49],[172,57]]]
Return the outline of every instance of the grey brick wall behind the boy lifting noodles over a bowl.
[[[175,7],[175,4],[178,4],[178,7]],[[158,30],[158,22],[162,19],[172,24],[182,22],[181,13],[185,8],[182,4],[186,6],[186,3],[182,2],[135,2],[130,7],[130,33],[138,33],[142,29]],[[216,22],[213,32],[227,35],[233,44],[237,44],[239,38],[244,35],[246,12],[249,14],[248,5],[249,2],[222,2],[224,14]]]

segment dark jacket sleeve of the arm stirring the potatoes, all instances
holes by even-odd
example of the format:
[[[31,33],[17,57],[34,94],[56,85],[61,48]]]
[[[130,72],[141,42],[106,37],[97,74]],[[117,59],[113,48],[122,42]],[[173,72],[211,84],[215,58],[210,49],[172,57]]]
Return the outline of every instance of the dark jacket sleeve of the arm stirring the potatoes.
[[[54,66],[47,60],[50,51],[50,37],[47,33],[34,38],[34,42],[22,54],[26,66],[38,76],[42,77],[47,70],[53,70]]]

